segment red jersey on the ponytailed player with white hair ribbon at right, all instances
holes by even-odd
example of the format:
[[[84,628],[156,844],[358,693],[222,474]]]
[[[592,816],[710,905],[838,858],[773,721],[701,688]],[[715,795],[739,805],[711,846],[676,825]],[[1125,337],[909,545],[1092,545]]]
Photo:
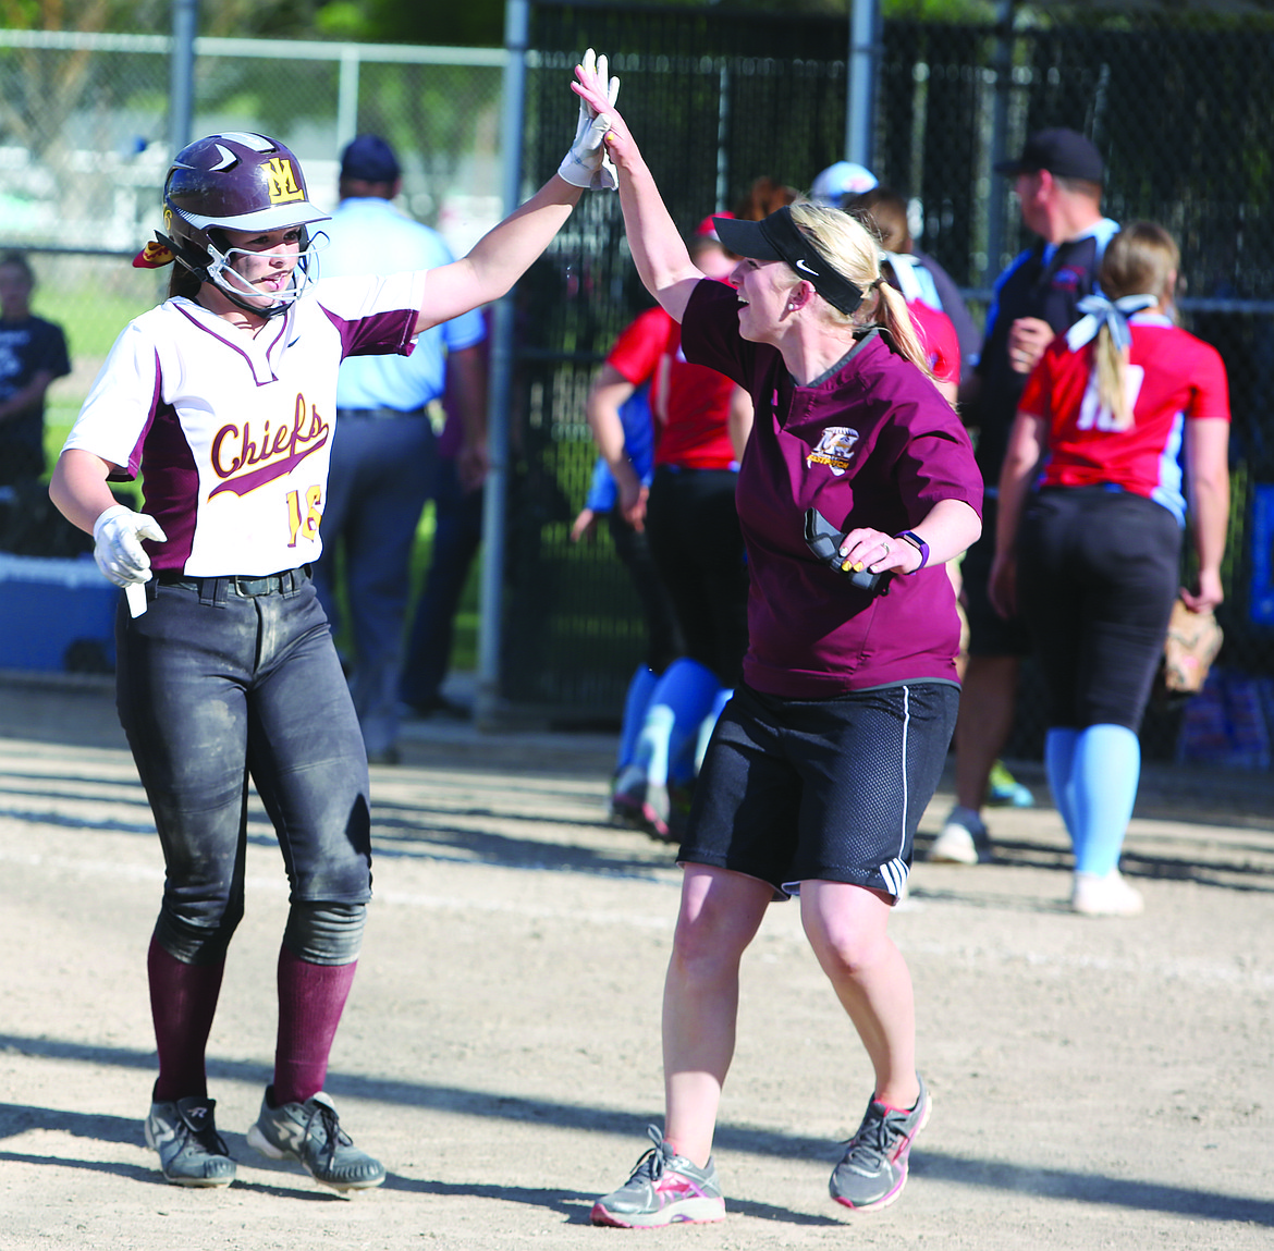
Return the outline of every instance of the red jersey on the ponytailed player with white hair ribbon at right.
[[[1163,504],[1184,524],[1185,423],[1229,420],[1226,367],[1215,348],[1159,313],[1135,313],[1129,325],[1127,429],[1113,429],[1111,411],[1098,399],[1096,340],[1071,352],[1065,335],[1055,339],[1027,380],[1018,409],[1047,428],[1042,487],[1112,484]]]

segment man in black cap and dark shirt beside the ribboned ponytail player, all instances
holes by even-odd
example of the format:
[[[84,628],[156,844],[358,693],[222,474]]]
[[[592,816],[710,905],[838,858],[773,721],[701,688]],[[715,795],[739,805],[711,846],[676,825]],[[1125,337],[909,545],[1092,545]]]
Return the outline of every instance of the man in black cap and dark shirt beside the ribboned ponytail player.
[[[964,422],[977,429],[986,498],[982,538],[961,566],[970,646],[956,725],[956,806],[929,851],[930,860],[953,864],[991,859],[981,809],[1013,729],[1022,657],[1031,651],[1020,620],[996,615],[986,592],[1009,431],[1027,375],[1052,339],[1079,320],[1079,301],[1096,289],[1102,254],[1119,231],[1102,215],[1101,154],[1074,130],[1038,131],[1020,157],[1001,162],[995,172],[1014,180],[1022,220],[1040,237],[996,279],[982,353],[961,389]]]

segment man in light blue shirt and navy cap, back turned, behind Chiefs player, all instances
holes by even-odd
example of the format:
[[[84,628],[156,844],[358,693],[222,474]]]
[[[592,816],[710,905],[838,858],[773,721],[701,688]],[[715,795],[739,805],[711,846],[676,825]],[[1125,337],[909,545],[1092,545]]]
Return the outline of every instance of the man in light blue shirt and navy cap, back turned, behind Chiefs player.
[[[389,143],[372,134],[350,140],[340,161],[340,204],[324,225],[330,237],[318,261],[324,278],[451,262],[451,248],[437,231],[395,208],[401,189],[403,172]],[[426,501],[433,494],[440,507],[443,497],[480,507],[485,334],[482,312],[473,310],[424,331],[410,355],[349,357],[338,375],[324,554],[315,566],[315,586],[335,627],[339,547],[354,643],[350,692],[373,764],[399,759],[410,558]],[[454,441],[459,447],[447,461],[432,424],[434,401],[445,395],[461,427]]]

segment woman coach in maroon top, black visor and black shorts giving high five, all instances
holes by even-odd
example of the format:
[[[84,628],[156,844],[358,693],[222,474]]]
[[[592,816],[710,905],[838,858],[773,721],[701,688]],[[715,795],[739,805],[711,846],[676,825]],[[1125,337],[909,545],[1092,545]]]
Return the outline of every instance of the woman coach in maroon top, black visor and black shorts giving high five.
[[[609,112],[606,147],[642,280],[682,322],[687,358],[733,377],[755,409],[736,496],[749,646],[680,852],[664,995],[666,1120],[592,1219],[650,1227],[725,1215],[710,1155],[739,961],[771,901],[798,892],[875,1074],[831,1192],[879,1208],[902,1190],[929,1115],[911,978],[885,922],[956,722],[959,622],[941,566],[981,529],[981,479],[857,222],[815,205],[761,222],[719,218],[721,242],[744,260],[736,290],[706,280],[603,83],[587,68],[577,78],[583,99]],[[891,575],[885,594],[851,586],[812,554],[812,507],[843,534],[848,568]]]

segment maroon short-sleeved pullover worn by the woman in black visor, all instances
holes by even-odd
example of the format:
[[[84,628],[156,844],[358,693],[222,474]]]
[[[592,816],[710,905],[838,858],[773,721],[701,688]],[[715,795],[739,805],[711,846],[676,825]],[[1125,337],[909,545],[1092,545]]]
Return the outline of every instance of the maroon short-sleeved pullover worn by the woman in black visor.
[[[735,492],[750,573],[747,683],[790,699],[957,683],[959,618],[941,566],[870,595],[818,561],[804,536],[810,507],[842,533],[908,530],[940,499],[981,513],[968,433],[933,382],[870,331],[798,386],[777,349],[740,336],[738,296],[711,280],[691,296],[682,341],[755,405]]]

